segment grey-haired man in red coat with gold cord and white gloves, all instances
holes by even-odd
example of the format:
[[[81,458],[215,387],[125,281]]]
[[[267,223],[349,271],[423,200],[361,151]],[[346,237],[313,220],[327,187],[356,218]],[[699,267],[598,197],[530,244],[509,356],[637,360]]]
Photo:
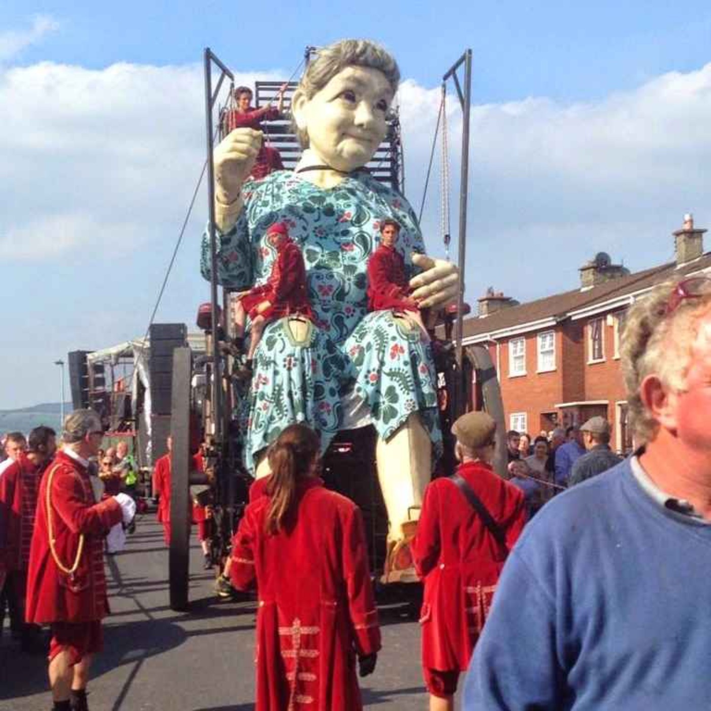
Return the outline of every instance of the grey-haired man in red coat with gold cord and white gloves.
[[[130,523],[136,505],[124,493],[96,503],[89,459],[101,445],[93,410],[65,418],[63,449],[42,476],[27,580],[26,619],[50,624],[49,680],[55,711],[87,711],[92,657],[103,645],[101,620],[109,611],[104,537]]]

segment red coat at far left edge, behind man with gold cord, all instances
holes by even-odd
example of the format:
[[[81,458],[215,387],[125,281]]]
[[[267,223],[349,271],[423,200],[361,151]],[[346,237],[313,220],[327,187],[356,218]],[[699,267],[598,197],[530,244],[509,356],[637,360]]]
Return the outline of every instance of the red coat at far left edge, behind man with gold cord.
[[[0,570],[27,571],[41,476],[22,452],[0,477]]]

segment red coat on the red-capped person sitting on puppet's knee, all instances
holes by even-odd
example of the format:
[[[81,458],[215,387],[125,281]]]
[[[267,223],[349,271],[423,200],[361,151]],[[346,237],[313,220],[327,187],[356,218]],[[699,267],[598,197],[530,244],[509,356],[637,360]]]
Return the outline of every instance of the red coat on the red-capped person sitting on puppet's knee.
[[[257,316],[257,306],[269,301],[271,306],[262,311],[265,319],[281,319],[282,316],[304,316],[314,320],[309,296],[306,294],[306,265],[299,245],[287,237],[279,247],[277,259],[272,264],[272,273],[265,284],[252,287],[249,294],[242,296],[242,306],[250,314]]]

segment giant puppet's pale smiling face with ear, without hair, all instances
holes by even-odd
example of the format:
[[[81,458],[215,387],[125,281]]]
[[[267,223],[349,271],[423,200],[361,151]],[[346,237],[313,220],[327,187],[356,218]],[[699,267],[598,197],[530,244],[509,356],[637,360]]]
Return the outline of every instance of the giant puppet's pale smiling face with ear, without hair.
[[[369,67],[346,67],[311,99],[296,92],[296,125],[309,134],[317,160],[350,173],[373,157],[385,138],[385,114],[392,102],[385,75]]]

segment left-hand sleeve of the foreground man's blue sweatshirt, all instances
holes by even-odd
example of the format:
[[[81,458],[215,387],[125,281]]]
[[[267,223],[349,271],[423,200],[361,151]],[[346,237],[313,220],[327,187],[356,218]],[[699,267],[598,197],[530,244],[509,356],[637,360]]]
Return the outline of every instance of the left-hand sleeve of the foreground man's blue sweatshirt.
[[[522,590],[525,604],[521,604]],[[555,622],[550,591],[514,550],[469,664],[463,707],[486,711],[567,707]]]

